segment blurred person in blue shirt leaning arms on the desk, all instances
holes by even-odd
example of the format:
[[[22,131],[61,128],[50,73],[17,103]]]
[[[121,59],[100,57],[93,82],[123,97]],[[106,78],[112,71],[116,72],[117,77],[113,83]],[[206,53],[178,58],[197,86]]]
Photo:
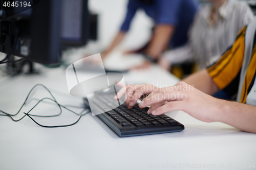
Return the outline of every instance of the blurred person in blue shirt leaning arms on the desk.
[[[111,45],[101,53],[102,59],[106,58],[120,44],[130,29],[136,11],[143,9],[155,22],[154,33],[150,42],[144,47],[127,53],[143,53],[147,59],[135,68],[150,66],[152,62],[157,61],[157,58],[167,47],[175,48],[187,42],[187,31],[197,8],[198,5],[194,0],[129,0],[127,13],[120,31]]]

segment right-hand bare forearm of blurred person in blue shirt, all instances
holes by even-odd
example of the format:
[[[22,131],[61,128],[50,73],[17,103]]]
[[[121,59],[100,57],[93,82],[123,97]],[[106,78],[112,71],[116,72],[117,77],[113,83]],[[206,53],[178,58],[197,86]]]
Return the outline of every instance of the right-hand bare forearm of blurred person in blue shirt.
[[[158,25],[154,31],[154,35],[150,45],[148,46],[146,53],[153,58],[159,57],[159,55],[166,48],[170,38],[174,32],[174,27],[170,25]]]

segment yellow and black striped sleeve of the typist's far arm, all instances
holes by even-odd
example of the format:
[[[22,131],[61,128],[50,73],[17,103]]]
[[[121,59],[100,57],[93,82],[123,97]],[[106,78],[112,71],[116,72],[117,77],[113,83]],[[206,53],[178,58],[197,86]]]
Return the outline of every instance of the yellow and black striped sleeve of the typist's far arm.
[[[244,27],[240,30],[236,41],[222,57],[206,69],[212,81],[229,96],[238,92],[240,72],[244,59],[246,28]]]

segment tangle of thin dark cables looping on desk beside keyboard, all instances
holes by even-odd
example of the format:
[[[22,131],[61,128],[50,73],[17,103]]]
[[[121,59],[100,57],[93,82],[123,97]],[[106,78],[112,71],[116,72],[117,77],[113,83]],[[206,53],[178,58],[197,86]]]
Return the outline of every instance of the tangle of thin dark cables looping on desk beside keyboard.
[[[19,113],[19,111],[23,108],[23,106],[25,105],[26,101],[28,100],[28,97],[29,97],[30,93],[32,92],[32,90],[33,90],[36,86],[42,86],[42,87],[44,87],[44,88],[51,94],[51,96],[52,96],[52,98],[53,98],[54,100],[51,99],[51,98],[43,98],[43,99],[39,100],[39,101],[28,111],[28,113],[25,113],[25,112],[24,112],[25,115],[24,115],[22,118],[20,118],[20,119],[18,119],[18,120],[13,119],[12,116],[15,116],[15,115],[17,115],[17,114]],[[46,99],[55,102],[55,103],[58,105],[59,109],[60,109],[60,113],[58,113],[58,114],[56,114],[56,115],[49,115],[49,116],[29,114],[29,112],[32,111],[40,102],[42,102],[42,101],[44,101],[44,100],[46,100]],[[45,125],[40,125],[39,123],[37,123],[37,122],[31,117],[31,116],[37,116],[37,117],[54,117],[54,116],[59,116],[59,115],[62,113],[61,107],[63,107],[63,108],[65,108],[65,109],[67,109],[67,110],[73,112],[73,113],[76,114],[76,115],[80,115],[80,117],[79,117],[78,120],[77,120],[75,123],[73,123],[73,124],[70,124],[70,125],[58,125],[58,126],[45,126]],[[56,101],[56,99],[54,98],[54,96],[52,95],[52,93],[50,92],[50,90],[49,90],[46,86],[44,86],[44,85],[42,85],[42,84],[36,84],[35,86],[32,87],[32,89],[30,90],[29,94],[27,95],[27,98],[26,98],[25,102],[23,103],[22,107],[20,107],[20,109],[18,110],[18,112],[17,112],[16,114],[9,114],[9,113],[6,113],[6,112],[0,110],[0,112],[4,113],[4,114],[0,114],[0,116],[8,116],[8,117],[10,117],[14,122],[18,122],[19,120],[22,120],[25,116],[28,116],[29,118],[31,118],[31,119],[33,120],[34,123],[36,123],[37,125],[39,125],[39,126],[41,126],[41,127],[45,127],[45,128],[57,128],[57,127],[68,127],[68,126],[75,125],[75,124],[80,120],[81,116],[86,115],[87,113],[90,112],[90,110],[89,110],[89,111],[87,111],[86,113],[82,114],[84,110],[85,110],[85,109],[83,109],[80,113],[76,113],[76,112],[70,110],[69,108],[67,108],[67,107],[65,107],[65,106],[63,106],[63,105],[60,105],[60,104]]]

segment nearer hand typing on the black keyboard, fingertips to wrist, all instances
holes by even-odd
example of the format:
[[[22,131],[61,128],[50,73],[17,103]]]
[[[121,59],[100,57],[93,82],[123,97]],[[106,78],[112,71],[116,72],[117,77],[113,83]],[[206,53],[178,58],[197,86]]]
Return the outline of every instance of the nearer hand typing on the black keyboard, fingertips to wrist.
[[[142,92],[140,92],[142,93]],[[203,122],[216,122],[217,114],[225,101],[216,99],[184,82],[175,86],[159,88],[139,104],[140,108],[151,106],[148,113],[160,115],[172,110],[183,110]]]

